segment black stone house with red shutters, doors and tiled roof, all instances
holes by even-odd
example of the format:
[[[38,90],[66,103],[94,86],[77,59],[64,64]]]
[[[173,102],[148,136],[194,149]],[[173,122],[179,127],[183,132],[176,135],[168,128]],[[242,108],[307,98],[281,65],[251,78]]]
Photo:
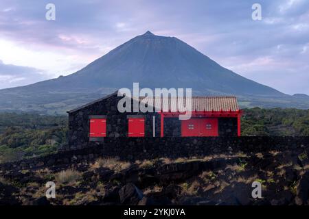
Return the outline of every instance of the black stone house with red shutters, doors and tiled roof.
[[[106,137],[240,136],[241,111],[235,96],[192,97],[189,120],[180,120],[181,113],[170,110],[175,104],[172,98],[162,99],[162,107],[168,105],[167,111],[147,113],[119,112],[121,99],[123,96],[115,92],[68,111],[69,144],[102,141]],[[134,102],[149,101],[147,97],[132,100],[132,106]]]

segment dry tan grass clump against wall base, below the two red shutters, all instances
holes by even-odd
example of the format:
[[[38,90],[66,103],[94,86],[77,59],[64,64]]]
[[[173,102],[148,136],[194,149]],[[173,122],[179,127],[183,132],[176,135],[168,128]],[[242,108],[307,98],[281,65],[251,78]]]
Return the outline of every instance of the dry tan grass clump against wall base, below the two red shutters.
[[[95,163],[91,166],[91,169],[104,167],[110,170],[114,170],[115,172],[120,172],[121,170],[125,170],[130,166],[131,164],[129,162],[122,162],[117,158],[107,157],[97,159]]]

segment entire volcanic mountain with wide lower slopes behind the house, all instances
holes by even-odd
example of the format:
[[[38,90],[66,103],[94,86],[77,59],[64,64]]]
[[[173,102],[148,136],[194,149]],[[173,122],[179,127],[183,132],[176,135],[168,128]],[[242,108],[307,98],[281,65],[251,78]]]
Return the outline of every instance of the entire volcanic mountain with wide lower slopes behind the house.
[[[309,108],[295,98],[223,68],[185,42],[147,31],[78,72],[0,90],[0,110],[64,113],[118,88],[192,88],[195,94],[235,94],[244,106]]]

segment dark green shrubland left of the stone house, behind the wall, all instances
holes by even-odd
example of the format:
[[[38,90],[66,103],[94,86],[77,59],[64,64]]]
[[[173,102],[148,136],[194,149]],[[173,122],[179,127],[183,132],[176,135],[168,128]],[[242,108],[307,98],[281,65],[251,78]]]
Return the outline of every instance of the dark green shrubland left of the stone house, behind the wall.
[[[0,163],[55,153],[67,142],[67,116],[0,114]]]

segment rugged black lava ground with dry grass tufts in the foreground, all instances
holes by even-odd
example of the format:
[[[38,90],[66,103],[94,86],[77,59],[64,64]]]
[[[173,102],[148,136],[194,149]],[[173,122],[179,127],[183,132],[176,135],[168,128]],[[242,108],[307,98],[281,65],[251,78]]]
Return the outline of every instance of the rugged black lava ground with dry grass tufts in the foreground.
[[[45,198],[45,183],[56,198]],[[253,181],[262,198],[252,198]],[[4,205],[308,205],[306,151],[120,161],[1,172]]]

